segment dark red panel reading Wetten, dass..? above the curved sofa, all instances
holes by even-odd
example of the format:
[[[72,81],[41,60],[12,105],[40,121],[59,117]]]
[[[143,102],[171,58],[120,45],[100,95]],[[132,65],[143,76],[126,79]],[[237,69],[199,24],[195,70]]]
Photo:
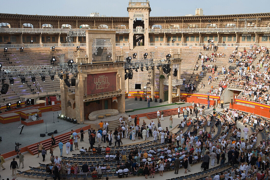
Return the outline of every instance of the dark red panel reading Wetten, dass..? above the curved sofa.
[[[116,72],[87,75],[87,94],[116,90]]]

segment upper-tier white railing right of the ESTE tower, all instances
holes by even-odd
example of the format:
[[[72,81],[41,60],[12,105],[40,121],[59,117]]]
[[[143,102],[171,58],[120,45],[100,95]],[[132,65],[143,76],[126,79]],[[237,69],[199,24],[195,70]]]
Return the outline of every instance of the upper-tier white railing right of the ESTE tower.
[[[148,29],[149,33],[269,32],[270,27]]]

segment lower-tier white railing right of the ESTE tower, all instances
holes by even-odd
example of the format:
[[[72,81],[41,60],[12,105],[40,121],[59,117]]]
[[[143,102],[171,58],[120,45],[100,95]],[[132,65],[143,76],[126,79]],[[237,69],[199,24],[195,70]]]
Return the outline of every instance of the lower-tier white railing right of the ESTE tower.
[[[167,42],[150,42],[148,43],[148,46],[203,46],[203,45],[207,45],[208,43],[196,43],[196,42],[175,42],[175,43],[167,43]],[[213,43],[213,46],[218,46],[218,47],[235,47],[236,45],[238,47],[249,47],[250,45],[256,45],[256,46],[266,46],[266,47],[270,47],[270,43]]]

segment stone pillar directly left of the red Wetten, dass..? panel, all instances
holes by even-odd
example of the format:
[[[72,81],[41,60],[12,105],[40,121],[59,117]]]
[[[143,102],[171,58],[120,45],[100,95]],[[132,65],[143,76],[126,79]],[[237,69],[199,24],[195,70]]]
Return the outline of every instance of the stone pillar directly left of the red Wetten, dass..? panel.
[[[76,102],[76,120],[78,123],[84,122],[84,102],[83,96],[84,92],[84,80],[87,75],[83,73],[79,73],[76,78],[76,86],[75,86],[75,102]],[[62,95],[61,95],[62,97]]]

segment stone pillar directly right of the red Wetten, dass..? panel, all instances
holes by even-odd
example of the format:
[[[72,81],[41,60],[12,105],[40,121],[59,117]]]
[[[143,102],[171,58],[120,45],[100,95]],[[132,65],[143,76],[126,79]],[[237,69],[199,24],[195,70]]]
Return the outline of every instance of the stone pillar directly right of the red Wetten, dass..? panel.
[[[117,109],[119,113],[125,113],[126,108],[125,108],[125,74],[124,74],[124,69],[118,69],[117,76],[119,76],[120,79],[120,84],[118,89],[122,90],[122,95],[117,97]],[[118,78],[117,78],[118,79]]]

